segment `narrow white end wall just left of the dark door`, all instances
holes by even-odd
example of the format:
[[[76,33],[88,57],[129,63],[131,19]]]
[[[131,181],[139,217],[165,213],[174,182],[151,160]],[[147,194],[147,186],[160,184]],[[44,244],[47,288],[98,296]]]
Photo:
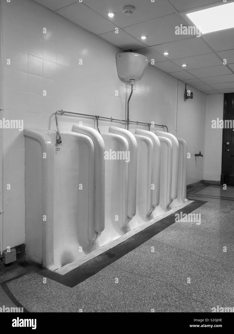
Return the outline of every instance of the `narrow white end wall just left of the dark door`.
[[[223,94],[207,95],[204,180],[220,181],[223,129],[212,129],[211,122],[223,119]]]

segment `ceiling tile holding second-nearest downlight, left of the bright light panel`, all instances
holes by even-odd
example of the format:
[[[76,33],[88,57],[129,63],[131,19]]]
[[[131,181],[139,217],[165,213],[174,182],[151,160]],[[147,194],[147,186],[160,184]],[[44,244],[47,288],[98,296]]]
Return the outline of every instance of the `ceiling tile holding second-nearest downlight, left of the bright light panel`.
[[[192,37],[193,35],[176,35],[175,27],[185,25],[186,21],[177,14],[160,17],[155,20],[135,24],[124,28],[125,31],[140,40],[142,35],[148,36],[144,41],[148,46]]]

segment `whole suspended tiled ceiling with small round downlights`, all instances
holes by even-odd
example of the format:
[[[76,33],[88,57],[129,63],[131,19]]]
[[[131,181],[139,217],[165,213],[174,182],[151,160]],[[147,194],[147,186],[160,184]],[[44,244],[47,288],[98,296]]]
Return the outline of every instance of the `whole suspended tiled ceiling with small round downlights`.
[[[155,67],[206,94],[234,92],[234,29],[201,37],[176,35],[175,26],[191,25],[185,12],[221,5],[214,0],[36,0],[123,50],[154,59]],[[233,2],[227,1],[227,2]],[[131,16],[122,8],[135,7]],[[106,13],[116,15],[109,18]],[[115,28],[119,33],[115,33]],[[148,38],[142,41],[141,36]],[[163,55],[163,52],[170,52]],[[223,64],[223,59],[227,64]],[[187,64],[186,69],[181,67]]]

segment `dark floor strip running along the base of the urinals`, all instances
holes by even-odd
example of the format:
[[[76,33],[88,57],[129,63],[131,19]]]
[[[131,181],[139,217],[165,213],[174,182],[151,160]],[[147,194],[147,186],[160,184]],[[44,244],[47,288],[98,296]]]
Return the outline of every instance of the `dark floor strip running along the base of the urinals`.
[[[89,277],[95,275],[105,267],[111,265],[116,260],[122,258],[124,255],[130,253],[135,248],[139,247],[144,242],[151,239],[156,234],[160,233],[167,227],[171,226],[175,223],[175,214],[179,212],[183,212],[188,214],[200,206],[207,203],[204,200],[194,200],[193,203],[188,204],[187,206],[179,209],[178,211],[170,214],[169,216],[155,222],[154,224],[148,226],[144,230],[136,233],[135,235],[131,236],[130,238],[122,241],[120,244],[114,246],[113,248],[109,249],[109,251],[102,253],[96,256],[93,259],[83,263],[79,267],[71,270],[65,275],[60,275],[55,272],[51,272],[48,269],[43,269],[41,271],[37,271],[37,274],[49,278],[53,281],[56,281],[60,284],[63,284],[67,287],[73,288],[79,283],[85,281]]]

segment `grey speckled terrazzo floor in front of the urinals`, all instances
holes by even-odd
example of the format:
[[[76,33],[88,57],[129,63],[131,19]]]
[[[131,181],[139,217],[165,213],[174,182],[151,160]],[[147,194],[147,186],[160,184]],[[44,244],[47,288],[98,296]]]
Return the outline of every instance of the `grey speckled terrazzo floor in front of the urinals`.
[[[201,214],[200,225],[175,222],[73,288],[45,282],[40,268],[13,264],[2,271],[0,305],[15,303],[29,312],[211,312],[234,306],[234,202],[205,195],[199,200],[207,201],[193,211]]]

